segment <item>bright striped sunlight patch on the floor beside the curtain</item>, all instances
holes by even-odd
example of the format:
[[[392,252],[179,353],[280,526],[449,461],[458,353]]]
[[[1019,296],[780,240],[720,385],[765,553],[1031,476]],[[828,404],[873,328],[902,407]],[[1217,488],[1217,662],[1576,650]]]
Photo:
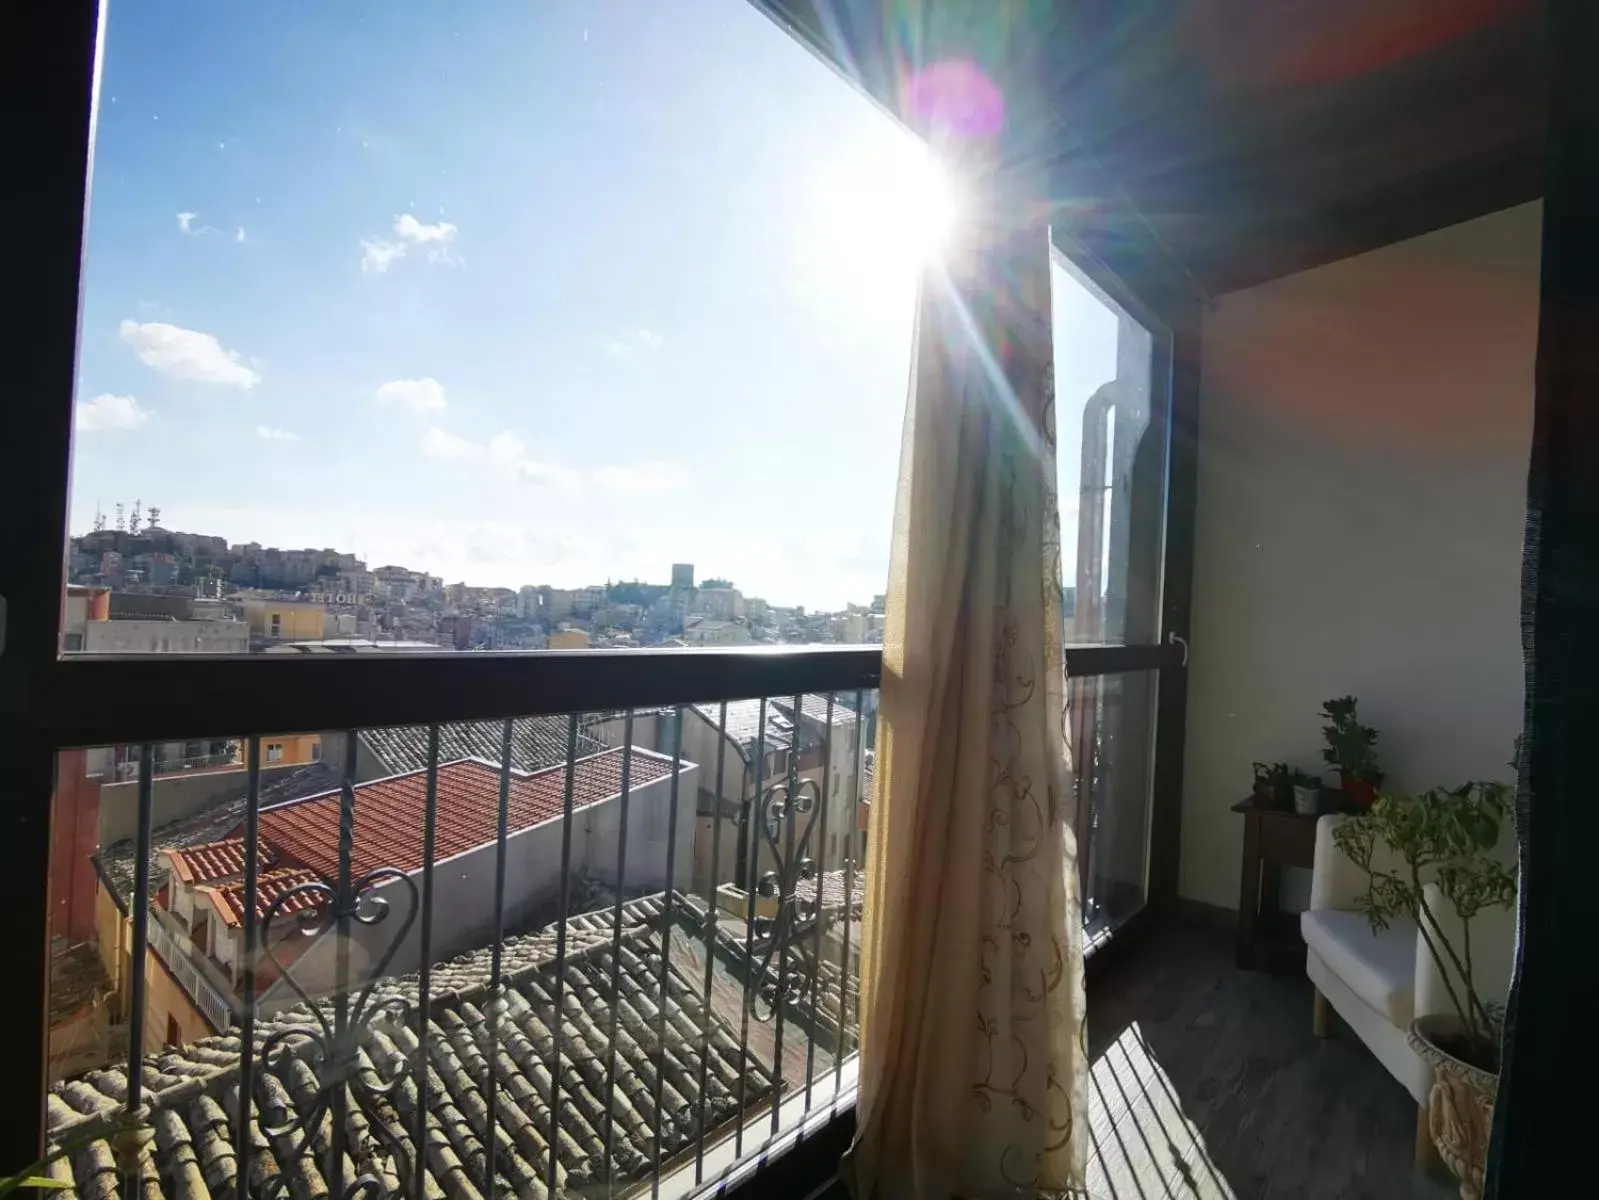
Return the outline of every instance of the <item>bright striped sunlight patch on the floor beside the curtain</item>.
[[[1094,1059],[1089,1194],[1103,1200],[1238,1200],[1134,1021]]]

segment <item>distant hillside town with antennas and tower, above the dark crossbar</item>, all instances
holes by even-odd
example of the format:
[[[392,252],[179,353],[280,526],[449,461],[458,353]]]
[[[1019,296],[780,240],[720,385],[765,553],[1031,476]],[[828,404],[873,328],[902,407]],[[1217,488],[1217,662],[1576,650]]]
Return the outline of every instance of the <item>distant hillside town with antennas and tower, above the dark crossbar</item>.
[[[160,509],[96,518],[69,547],[62,648],[85,653],[357,653],[879,643],[884,597],[819,613],[731,579],[475,587],[368,566],[334,549],[229,542],[160,525]]]

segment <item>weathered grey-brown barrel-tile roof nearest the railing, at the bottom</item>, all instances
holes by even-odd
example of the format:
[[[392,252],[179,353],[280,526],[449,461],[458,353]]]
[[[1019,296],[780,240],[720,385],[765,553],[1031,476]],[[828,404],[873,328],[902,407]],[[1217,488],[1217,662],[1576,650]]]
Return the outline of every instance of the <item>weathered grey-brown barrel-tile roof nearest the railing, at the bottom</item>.
[[[421,1155],[424,1195],[438,1200],[472,1197],[542,1197],[550,1136],[552,1070],[561,1080],[560,1126],[555,1141],[561,1194],[625,1194],[648,1179],[656,1157],[667,1163],[689,1150],[697,1136],[700,1061],[707,1069],[705,1123],[715,1131],[739,1115],[740,1080],[747,1110],[772,1096],[771,1070],[740,1051],[737,1026],[707,1010],[702,984],[680,966],[686,934],[673,926],[672,970],[662,994],[662,896],[630,901],[622,912],[620,954],[612,958],[609,912],[574,917],[566,923],[564,1003],[555,1008],[555,926],[504,942],[504,990],[488,990],[488,950],[477,950],[433,971],[430,1021],[419,1027],[414,978],[382,984],[374,1006],[403,1000],[405,1014],[379,1016],[360,1034],[361,1077],[385,1077],[401,1062],[411,1066],[392,1091],[352,1085],[350,1176],[373,1171],[389,1195],[400,1194],[398,1165],[384,1134],[411,1146],[419,1102],[416,1070],[427,1048],[427,1152]],[[611,987],[612,962],[619,986]],[[664,998],[664,1005],[660,1003]],[[665,1040],[657,1040],[665,1018]],[[616,1021],[616,1042],[608,1040]],[[304,1010],[264,1018],[256,1053],[273,1032],[304,1026]],[[491,1038],[489,1024],[497,1024]],[[563,1053],[556,1062],[555,1026]],[[209,1200],[232,1197],[238,1186],[235,1114],[238,1112],[238,1056],[235,1032],[146,1058],[146,1102],[155,1138],[144,1150],[139,1176],[144,1200]],[[489,1056],[489,1050],[496,1053]],[[614,1142],[604,1154],[604,1070],[616,1051]],[[257,1059],[259,1061],[259,1059]],[[497,1179],[486,1176],[488,1136],[483,1090],[491,1077],[499,1086],[494,1138]],[[376,1080],[371,1080],[376,1083]],[[654,1094],[660,1086],[657,1112]],[[59,1139],[101,1114],[122,1109],[128,1078],[122,1066],[91,1070],[53,1086],[46,1096],[50,1136]],[[323,1158],[291,1157],[293,1138],[261,1128],[291,1125],[317,1096],[312,1067],[296,1054],[273,1054],[257,1075],[257,1096],[248,1133],[251,1194],[267,1195],[281,1176],[288,1200],[326,1197]],[[262,1112],[265,1109],[265,1114]],[[318,1144],[321,1144],[318,1134]],[[56,1166],[82,1200],[115,1200],[120,1176],[107,1142],[99,1141]],[[608,1179],[609,1176],[609,1179]]]

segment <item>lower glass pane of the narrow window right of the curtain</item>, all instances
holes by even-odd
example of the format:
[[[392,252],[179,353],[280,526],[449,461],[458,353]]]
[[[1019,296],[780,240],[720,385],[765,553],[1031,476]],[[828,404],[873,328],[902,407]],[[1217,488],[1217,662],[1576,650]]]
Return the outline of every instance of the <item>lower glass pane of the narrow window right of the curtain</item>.
[[[1067,680],[1078,870],[1091,938],[1135,914],[1148,896],[1158,685],[1154,670]]]

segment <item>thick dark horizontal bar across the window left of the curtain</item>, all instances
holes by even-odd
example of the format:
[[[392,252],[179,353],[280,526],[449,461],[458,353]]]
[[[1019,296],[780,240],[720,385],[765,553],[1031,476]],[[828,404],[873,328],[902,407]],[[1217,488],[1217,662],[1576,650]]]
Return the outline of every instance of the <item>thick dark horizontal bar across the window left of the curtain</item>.
[[[51,749],[564,715],[875,688],[881,646],[484,654],[72,654],[40,677]]]

